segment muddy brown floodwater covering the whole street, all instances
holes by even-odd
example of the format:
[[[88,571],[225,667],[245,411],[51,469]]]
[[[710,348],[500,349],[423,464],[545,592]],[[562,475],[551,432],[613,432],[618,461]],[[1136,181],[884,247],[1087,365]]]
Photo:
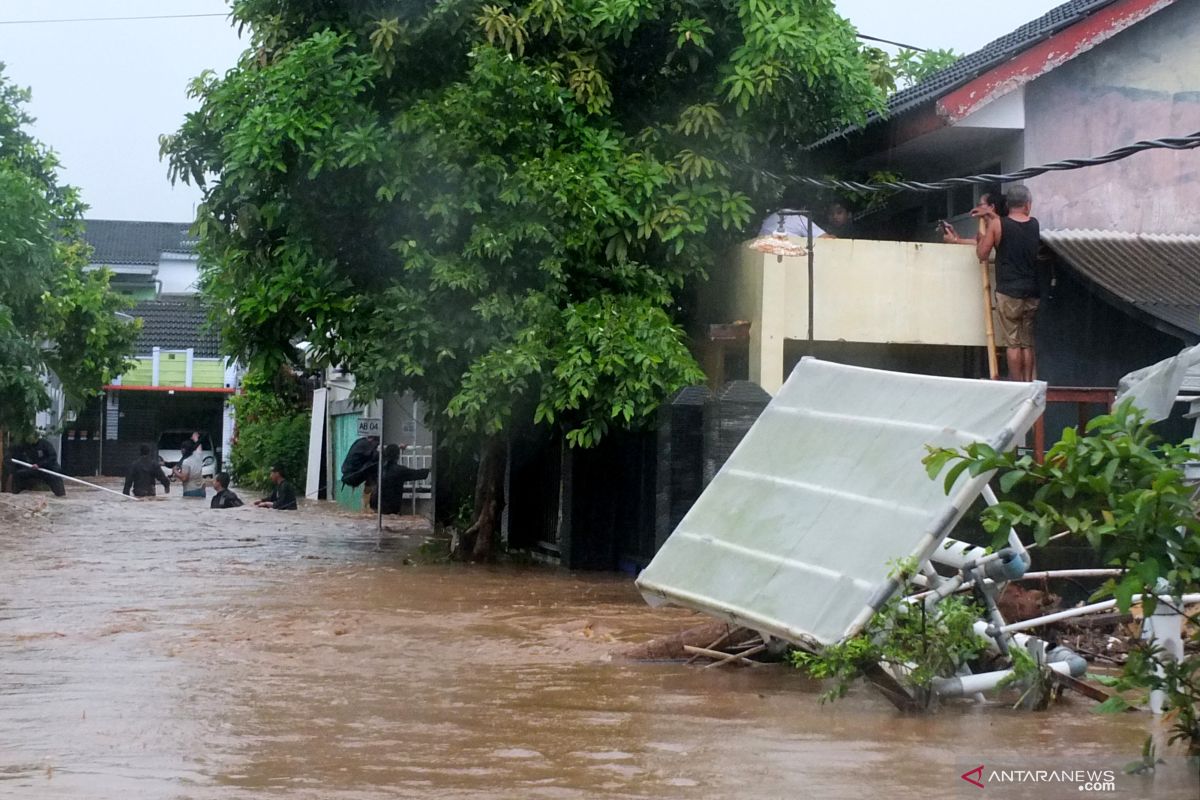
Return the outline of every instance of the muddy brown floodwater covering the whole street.
[[[821,705],[781,666],[614,658],[703,621],[628,576],[415,566],[420,535],[377,548],[373,519],[313,506],[68,492],[0,495],[0,798],[976,796],[977,764],[1121,765],[1152,724]],[[1105,796],[1200,796],[1160,772]],[[1033,789],[986,796],[1056,796]]]

